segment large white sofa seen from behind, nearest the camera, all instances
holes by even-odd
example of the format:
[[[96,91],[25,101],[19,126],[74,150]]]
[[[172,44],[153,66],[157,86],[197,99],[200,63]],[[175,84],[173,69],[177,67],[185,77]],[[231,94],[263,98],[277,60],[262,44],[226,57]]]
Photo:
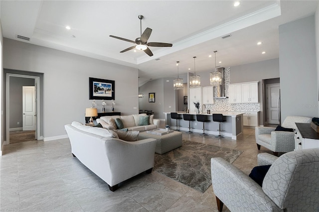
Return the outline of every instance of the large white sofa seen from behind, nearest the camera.
[[[154,167],[156,139],[124,141],[113,130],[73,121],[65,129],[74,157],[104,180],[111,191],[118,184]]]

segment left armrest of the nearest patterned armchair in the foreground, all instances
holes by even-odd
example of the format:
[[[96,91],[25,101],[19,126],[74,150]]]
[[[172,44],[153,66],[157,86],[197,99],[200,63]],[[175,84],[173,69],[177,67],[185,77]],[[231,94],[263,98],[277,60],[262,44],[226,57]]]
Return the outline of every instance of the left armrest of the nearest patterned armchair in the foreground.
[[[230,211],[281,211],[254,180],[222,158],[211,158],[214,194]]]

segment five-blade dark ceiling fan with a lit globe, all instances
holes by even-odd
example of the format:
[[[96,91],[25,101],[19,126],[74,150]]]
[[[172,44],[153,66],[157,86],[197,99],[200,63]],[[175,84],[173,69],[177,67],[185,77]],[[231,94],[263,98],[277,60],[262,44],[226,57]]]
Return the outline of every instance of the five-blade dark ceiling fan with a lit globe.
[[[140,22],[141,22],[141,37],[136,38],[135,41],[129,40],[129,39],[125,39],[125,38],[122,38],[122,37],[117,37],[117,36],[114,36],[114,35],[110,35],[110,37],[114,37],[114,38],[117,38],[117,39],[120,39],[120,40],[124,40],[124,41],[128,41],[128,42],[137,44],[135,46],[131,46],[131,47],[127,48],[127,49],[124,49],[123,51],[120,51],[121,53],[136,48],[138,50],[143,50],[149,56],[153,56],[153,53],[152,53],[151,49],[149,49],[148,46],[171,47],[173,45],[173,44],[170,44],[170,43],[158,43],[158,42],[149,42],[148,43],[148,39],[151,36],[152,29],[151,28],[146,28],[144,30],[143,34],[142,34],[142,19],[144,18],[144,16],[143,15],[139,15],[138,17],[139,17]]]

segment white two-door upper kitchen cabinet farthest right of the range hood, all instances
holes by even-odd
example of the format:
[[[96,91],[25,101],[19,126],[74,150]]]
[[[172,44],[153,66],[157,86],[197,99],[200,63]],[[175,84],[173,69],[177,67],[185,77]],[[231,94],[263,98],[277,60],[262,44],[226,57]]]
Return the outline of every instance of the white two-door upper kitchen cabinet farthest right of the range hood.
[[[241,84],[241,102],[258,103],[258,81]]]

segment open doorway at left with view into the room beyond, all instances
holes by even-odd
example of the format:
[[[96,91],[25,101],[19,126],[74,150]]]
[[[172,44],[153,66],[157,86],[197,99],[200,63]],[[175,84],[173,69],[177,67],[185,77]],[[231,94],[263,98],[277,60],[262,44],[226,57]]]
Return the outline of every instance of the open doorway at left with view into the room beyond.
[[[6,74],[6,144],[40,137],[37,76]]]

